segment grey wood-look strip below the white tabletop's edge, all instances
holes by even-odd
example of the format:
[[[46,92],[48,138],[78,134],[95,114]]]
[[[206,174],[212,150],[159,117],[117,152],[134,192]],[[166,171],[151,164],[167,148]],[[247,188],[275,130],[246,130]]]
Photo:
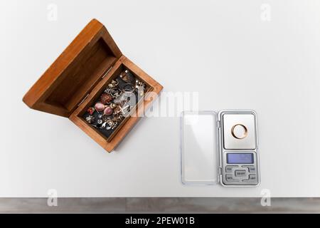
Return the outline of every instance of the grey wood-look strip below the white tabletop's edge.
[[[319,198],[1,198],[0,213],[320,213]]]

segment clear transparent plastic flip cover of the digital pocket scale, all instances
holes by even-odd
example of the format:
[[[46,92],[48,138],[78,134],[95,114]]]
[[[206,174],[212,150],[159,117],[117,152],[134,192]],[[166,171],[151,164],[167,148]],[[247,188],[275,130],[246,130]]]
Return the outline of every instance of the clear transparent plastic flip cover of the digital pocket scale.
[[[181,181],[186,185],[215,185],[218,173],[218,114],[183,111],[181,114]]]

